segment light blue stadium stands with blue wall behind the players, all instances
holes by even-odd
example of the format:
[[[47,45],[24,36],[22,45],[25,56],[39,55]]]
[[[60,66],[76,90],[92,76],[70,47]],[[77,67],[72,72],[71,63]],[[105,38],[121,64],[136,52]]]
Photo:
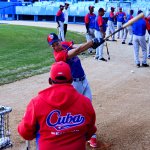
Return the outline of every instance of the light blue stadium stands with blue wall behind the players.
[[[94,3],[94,1],[84,1],[84,2],[78,2],[78,3],[70,3],[69,7],[69,21],[70,22],[83,22],[83,17],[88,13],[88,7],[90,5],[95,6],[94,12],[97,14],[98,9],[100,7],[103,7],[106,10],[106,13],[104,15],[104,18],[108,17],[110,7],[115,7],[116,11],[118,11],[119,7],[123,8],[123,11],[129,12],[130,9],[133,9],[135,11],[134,15],[136,15],[137,11],[142,8],[144,13],[146,14],[149,9],[149,2],[148,1],[142,1],[142,2],[106,2],[106,1],[99,1],[98,3]],[[55,15],[59,9],[59,5],[63,4],[63,2],[54,2],[54,1],[41,1],[41,2],[34,2],[34,3],[7,3],[8,8],[5,8],[6,3],[2,4],[0,2],[0,19],[7,19],[3,16],[5,15],[12,15],[12,19],[24,19],[24,16],[26,16],[26,19],[34,19],[34,21],[38,21],[39,16],[42,20],[43,18],[51,17],[51,21],[55,21]],[[14,17],[15,16],[15,17]],[[32,16],[32,17],[29,17]],[[47,17],[45,17],[47,16]],[[80,18],[80,19],[79,19]],[[82,19],[81,19],[82,18]],[[44,19],[47,20],[47,19]]]

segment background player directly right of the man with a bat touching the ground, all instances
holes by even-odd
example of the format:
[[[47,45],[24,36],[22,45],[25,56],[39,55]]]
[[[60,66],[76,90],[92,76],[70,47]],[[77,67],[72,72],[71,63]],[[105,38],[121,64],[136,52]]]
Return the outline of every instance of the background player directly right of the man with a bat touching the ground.
[[[108,17],[108,22],[107,22],[107,34],[110,35],[111,33],[115,32],[115,26],[114,26],[114,21],[115,21],[115,14],[114,14],[115,8],[111,7],[111,11],[109,13],[109,17]],[[109,41],[109,39],[107,39]],[[115,34],[112,35],[112,41],[116,41],[115,40]]]

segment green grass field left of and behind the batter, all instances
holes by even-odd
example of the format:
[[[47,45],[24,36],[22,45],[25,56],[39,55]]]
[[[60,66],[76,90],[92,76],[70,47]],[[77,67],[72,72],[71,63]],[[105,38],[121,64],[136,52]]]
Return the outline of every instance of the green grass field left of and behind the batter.
[[[0,85],[48,72],[54,62],[46,38],[55,29],[0,25]],[[67,32],[67,40],[85,42],[84,35]]]

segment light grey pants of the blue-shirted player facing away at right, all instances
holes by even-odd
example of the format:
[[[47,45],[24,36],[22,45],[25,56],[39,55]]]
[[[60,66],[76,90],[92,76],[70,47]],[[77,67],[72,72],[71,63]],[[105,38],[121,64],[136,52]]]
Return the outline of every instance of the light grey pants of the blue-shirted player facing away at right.
[[[143,54],[143,64],[147,64],[147,47],[146,47],[146,39],[144,36],[133,35],[133,46],[134,46],[134,61],[136,64],[140,64],[139,60],[139,47],[142,48]]]

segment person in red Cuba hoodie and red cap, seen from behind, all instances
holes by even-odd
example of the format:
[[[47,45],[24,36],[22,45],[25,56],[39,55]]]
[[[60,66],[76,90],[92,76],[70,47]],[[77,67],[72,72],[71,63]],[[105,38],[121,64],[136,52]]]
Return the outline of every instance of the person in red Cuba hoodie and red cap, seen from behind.
[[[54,63],[51,86],[32,98],[26,108],[18,132],[26,140],[37,138],[39,150],[86,150],[86,141],[96,132],[92,104],[76,91],[72,81],[69,65]]]

